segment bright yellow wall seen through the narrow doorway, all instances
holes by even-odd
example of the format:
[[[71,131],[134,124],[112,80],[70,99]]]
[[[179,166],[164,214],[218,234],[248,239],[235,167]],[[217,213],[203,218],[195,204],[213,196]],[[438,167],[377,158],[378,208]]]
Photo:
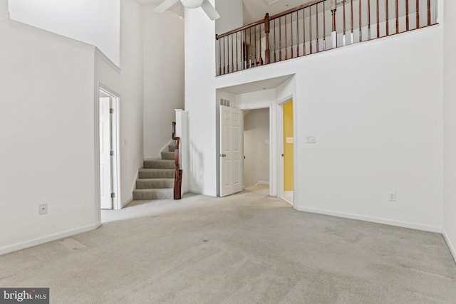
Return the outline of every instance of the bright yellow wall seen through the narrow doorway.
[[[293,101],[284,104],[284,191],[293,191]]]

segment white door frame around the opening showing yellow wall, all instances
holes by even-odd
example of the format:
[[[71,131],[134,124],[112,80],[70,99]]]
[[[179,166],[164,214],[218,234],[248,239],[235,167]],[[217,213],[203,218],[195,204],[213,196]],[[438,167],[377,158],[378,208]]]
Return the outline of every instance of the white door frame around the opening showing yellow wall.
[[[279,189],[278,189],[278,195],[279,199],[285,200],[285,190],[284,190],[284,157],[282,157],[282,154],[284,154],[284,104],[288,103],[289,101],[293,101],[293,137],[296,138],[296,103],[294,101],[294,95],[291,94],[287,96],[284,99],[278,100],[277,101],[277,162],[279,164],[279,170],[278,170],[278,175],[279,175]],[[293,191],[295,189],[295,178],[296,178],[296,145],[295,143],[293,144],[293,150],[294,150],[294,155],[293,157]],[[293,196],[293,201],[290,203],[292,206],[294,206],[294,199],[295,197]],[[289,201],[287,201],[289,202]]]

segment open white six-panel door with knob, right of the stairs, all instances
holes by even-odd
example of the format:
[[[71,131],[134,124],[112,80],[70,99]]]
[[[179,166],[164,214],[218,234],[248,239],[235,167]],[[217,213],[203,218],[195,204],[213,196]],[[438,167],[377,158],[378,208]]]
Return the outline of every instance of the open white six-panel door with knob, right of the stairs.
[[[220,196],[242,191],[244,116],[220,105]]]

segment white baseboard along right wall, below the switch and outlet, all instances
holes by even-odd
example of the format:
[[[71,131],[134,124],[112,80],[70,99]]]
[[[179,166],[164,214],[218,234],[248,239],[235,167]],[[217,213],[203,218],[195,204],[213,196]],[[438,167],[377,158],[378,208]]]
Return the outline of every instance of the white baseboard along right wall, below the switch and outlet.
[[[371,216],[361,216],[358,214],[346,214],[343,212],[306,208],[306,207],[299,207],[299,206],[294,206],[294,209],[296,209],[298,211],[306,211],[306,212],[315,213],[315,214],[326,214],[326,215],[331,215],[331,216],[343,217],[345,219],[358,219],[360,221],[370,221],[372,223],[398,226],[398,227],[403,227],[403,228],[410,228],[410,229],[429,231],[429,232],[436,232],[437,234],[442,234],[442,232],[443,232],[442,227],[439,227],[439,226],[430,226],[430,225],[409,223],[407,221],[393,221],[390,219],[380,219],[380,218],[371,217]]]

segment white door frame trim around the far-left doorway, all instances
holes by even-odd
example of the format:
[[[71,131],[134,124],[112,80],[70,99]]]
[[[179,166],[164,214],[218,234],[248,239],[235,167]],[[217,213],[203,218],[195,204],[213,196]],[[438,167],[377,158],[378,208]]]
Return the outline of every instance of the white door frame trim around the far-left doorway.
[[[115,197],[113,198],[113,209],[122,209],[122,204],[120,200],[120,95],[115,93],[115,91],[108,88],[108,86],[103,85],[103,83],[98,83],[98,90],[97,90],[97,122],[98,127],[100,125],[100,92],[110,96],[111,98],[111,108],[113,108],[114,113],[110,115],[110,124],[111,124],[111,140],[112,145],[111,149],[114,152],[113,157],[111,157],[111,191],[115,193]],[[97,127],[97,129],[98,129]],[[98,189],[98,206],[101,208],[100,203],[100,130],[98,130],[97,135],[97,159],[98,159],[98,179],[97,179],[97,189]]]

